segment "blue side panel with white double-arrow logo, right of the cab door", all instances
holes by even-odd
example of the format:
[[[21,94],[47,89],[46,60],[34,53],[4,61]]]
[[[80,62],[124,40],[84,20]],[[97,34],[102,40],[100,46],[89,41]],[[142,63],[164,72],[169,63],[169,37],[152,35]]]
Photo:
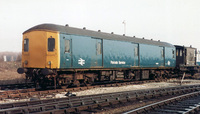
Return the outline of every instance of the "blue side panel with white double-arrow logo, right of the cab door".
[[[97,55],[98,39],[72,35],[72,56],[74,68],[102,67],[102,55]],[[85,64],[79,64],[80,60]]]

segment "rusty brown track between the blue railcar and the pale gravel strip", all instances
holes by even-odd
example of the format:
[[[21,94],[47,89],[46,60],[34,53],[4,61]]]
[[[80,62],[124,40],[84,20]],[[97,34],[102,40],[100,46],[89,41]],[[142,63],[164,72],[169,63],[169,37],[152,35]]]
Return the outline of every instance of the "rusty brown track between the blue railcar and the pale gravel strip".
[[[162,80],[166,81],[166,80]],[[42,95],[49,95],[54,93],[60,92],[74,92],[74,91],[81,91],[87,90],[92,88],[100,88],[100,87],[119,87],[125,85],[133,85],[133,84],[143,84],[143,83],[150,83],[156,82],[155,80],[146,80],[146,81],[134,81],[134,82],[124,82],[124,83],[112,83],[112,84],[103,84],[103,85],[93,85],[93,86],[84,86],[84,87],[74,87],[74,88],[67,88],[67,89],[55,89],[55,90],[43,90],[37,91],[35,88],[29,89],[21,89],[21,90],[9,90],[9,91],[2,91],[0,92],[0,100],[8,99],[8,98],[29,98],[32,96],[42,96]]]

